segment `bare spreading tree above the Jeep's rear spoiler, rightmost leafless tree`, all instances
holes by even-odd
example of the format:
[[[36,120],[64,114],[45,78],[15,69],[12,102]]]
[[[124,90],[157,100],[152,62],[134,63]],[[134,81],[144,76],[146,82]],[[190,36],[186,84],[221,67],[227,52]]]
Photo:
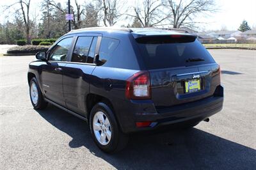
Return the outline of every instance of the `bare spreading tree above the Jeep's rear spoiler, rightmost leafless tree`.
[[[207,12],[216,12],[214,0],[179,0],[178,3],[173,0],[164,0],[164,5],[170,10],[171,24],[173,28],[180,26],[193,27],[195,16]]]

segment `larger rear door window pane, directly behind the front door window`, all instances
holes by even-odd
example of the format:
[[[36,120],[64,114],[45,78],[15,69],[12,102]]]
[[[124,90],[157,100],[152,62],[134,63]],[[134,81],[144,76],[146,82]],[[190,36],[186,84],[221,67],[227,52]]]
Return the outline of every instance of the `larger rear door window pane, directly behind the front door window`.
[[[85,63],[88,58],[93,36],[79,36],[72,54],[72,62]]]

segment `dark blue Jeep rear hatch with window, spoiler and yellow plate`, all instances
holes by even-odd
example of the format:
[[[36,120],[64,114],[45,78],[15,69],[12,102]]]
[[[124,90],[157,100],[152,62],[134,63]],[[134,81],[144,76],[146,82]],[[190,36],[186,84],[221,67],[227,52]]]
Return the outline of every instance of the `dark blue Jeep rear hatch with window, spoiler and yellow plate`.
[[[220,85],[220,66],[196,36],[141,36],[136,42],[156,109],[211,97]]]

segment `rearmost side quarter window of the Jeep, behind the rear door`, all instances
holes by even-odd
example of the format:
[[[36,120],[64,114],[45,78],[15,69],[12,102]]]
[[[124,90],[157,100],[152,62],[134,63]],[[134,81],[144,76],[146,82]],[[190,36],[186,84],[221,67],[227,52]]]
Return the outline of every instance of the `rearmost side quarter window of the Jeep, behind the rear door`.
[[[99,51],[99,61],[103,65],[111,57],[111,54],[119,44],[119,40],[113,38],[102,37]]]

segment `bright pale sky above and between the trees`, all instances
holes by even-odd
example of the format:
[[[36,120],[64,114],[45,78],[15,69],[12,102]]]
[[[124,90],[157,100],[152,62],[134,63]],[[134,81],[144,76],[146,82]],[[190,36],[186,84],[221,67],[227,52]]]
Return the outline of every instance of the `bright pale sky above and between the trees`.
[[[12,4],[17,0],[0,0],[0,6]],[[35,15],[40,12],[40,2],[42,0],[31,0],[31,14]],[[71,3],[74,3],[74,0],[70,0]],[[89,0],[77,0],[79,3],[88,2]],[[92,1],[92,0],[91,0]],[[122,0],[125,1],[125,0]],[[134,4],[134,1],[138,0],[127,0],[125,2],[126,6],[131,6]],[[159,0],[161,1],[161,0]],[[65,5],[67,0],[56,0]],[[216,0],[216,4],[220,7],[219,12],[213,13],[209,16],[198,17],[196,19],[198,22],[205,22],[207,24],[200,24],[200,29],[202,30],[212,30],[212,29],[221,29],[221,27],[226,26],[229,30],[236,30],[243,20],[247,20],[248,24],[256,26],[256,1],[255,0]],[[3,8],[0,7],[0,22],[6,22],[8,19],[12,20],[10,14],[7,12],[2,12]],[[10,11],[12,13],[13,10]],[[3,13],[3,14],[2,14]],[[127,24],[127,21],[120,20],[116,26],[122,26]]]

